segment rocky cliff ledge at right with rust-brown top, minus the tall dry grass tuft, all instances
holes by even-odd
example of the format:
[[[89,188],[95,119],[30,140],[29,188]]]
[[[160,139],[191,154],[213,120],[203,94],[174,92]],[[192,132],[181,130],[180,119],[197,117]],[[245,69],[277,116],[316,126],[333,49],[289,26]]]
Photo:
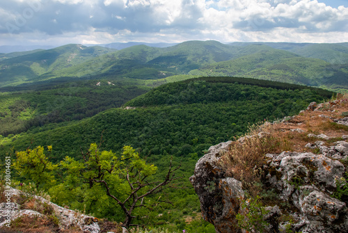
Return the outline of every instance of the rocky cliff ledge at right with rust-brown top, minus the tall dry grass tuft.
[[[291,132],[299,145],[294,145],[293,152],[260,154],[264,163],[253,168],[260,175],[262,187],[275,194],[259,208],[264,210],[259,214],[267,213],[262,216],[263,232],[348,232],[347,105],[347,100],[311,103],[298,116],[271,124],[278,131]],[[235,178],[240,177],[238,171],[226,168],[223,157],[231,143],[269,136],[259,131],[235,142],[220,143],[210,147],[196,163],[190,181],[199,196],[203,218],[215,226],[216,232],[248,232],[250,228],[242,227],[238,216],[250,220],[251,231],[258,232],[248,208],[248,189]]]

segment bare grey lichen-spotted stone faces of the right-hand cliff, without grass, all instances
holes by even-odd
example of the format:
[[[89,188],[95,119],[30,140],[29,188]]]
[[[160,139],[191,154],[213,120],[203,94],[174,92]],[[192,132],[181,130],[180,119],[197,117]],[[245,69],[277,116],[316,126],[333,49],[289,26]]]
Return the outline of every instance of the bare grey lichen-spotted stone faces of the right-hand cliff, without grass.
[[[239,143],[244,140],[241,138]],[[246,211],[240,205],[241,197],[244,197],[242,183],[226,177],[219,166],[221,154],[229,143],[210,147],[190,178],[200,199],[203,218],[212,223],[218,233],[245,232],[238,228],[235,218],[236,214]],[[324,142],[318,140],[306,147],[324,148]],[[329,149],[345,154],[346,142],[340,141]],[[329,196],[335,191],[335,179],[345,172],[340,161],[308,152],[282,152],[266,157],[267,165],[262,168],[264,182],[274,188],[279,200],[287,202],[287,209],[291,211],[277,205],[266,207],[269,212],[263,218],[269,225],[265,232],[286,232],[289,225],[294,232],[348,232],[347,204]],[[281,216],[291,216],[293,222],[280,221]]]

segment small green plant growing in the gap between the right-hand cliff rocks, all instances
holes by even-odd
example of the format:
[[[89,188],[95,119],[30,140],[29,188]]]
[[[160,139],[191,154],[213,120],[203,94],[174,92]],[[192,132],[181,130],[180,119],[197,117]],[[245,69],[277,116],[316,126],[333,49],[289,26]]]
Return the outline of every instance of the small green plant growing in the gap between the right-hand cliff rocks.
[[[236,215],[238,225],[248,232],[264,232],[269,225],[263,218],[268,213],[260,202],[260,197],[255,199],[245,198],[241,200],[241,211]]]

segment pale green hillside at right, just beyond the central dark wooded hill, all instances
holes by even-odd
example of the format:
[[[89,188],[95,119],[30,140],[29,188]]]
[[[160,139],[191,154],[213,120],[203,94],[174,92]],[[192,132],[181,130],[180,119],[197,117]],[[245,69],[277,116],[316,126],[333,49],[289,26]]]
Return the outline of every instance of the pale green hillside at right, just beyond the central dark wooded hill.
[[[254,54],[192,70],[189,74],[237,76],[309,86],[348,88],[348,72],[345,70],[345,65],[331,65],[317,58],[303,58],[265,45],[249,45],[243,48],[249,49],[249,47],[260,49]]]

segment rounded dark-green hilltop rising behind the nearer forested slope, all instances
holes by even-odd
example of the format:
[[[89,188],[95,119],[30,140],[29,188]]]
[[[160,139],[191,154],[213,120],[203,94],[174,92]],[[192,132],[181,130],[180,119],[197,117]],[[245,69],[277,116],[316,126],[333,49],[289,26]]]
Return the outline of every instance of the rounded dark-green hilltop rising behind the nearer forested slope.
[[[194,83],[194,84],[192,84]],[[205,83],[200,85],[198,83]],[[215,84],[213,84],[215,83]],[[220,91],[212,90],[209,86],[217,86],[216,83],[225,83],[220,85]],[[232,85],[231,85],[232,84]],[[243,88],[238,89],[237,84],[246,84],[248,86],[258,86],[262,88],[278,89],[278,90],[310,90],[310,92],[322,97],[330,98],[333,93],[329,90],[313,88],[310,86],[299,86],[291,83],[280,83],[276,81],[267,81],[261,79],[247,79],[238,77],[200,77],[189,79],[177,83],[168,83],[159,86],[155,90],[144,95],[136,97],[127,102],[127,106],[157,106],[172,104],[194,104],[194,103],[213,103],[228,102],[236,100],[254,100],[259,99],[262,95],[270,95],[270,93],[246,93]],[[187,86],[188,85],[188,86]],[[208,85],[208,86],[207,86]],[[226,88],[233,87],[232,90]],[[286,98],[286,97],[285,97]],[[261,98],[262,99],[262,98]]]

